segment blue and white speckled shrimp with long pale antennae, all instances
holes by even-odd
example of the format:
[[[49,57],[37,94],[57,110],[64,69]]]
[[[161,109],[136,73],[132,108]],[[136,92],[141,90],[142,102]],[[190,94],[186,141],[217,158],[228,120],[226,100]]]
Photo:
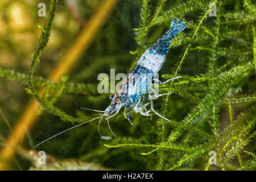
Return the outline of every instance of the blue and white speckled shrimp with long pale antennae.
[[[111,104],[104,111],[87,109],[87,110],[101,112],[103,114],[99,117],[93,118],[89,121],[73,126],[70,129],[67,129],[65,131],[74,129],[75,127],[84,125],[85,123],[88,123],[88,122],[94,121],[95,119],[100,118],[98,122],[98,133],[100,134],[102,139],[111,139],[111,137],[102,136],[100,133],[100,123],[101,123],[102,117],[104,116],[106,117],[106,120],[108,120],[108,126],[109,126],[109,119],[117,115],[120,109],[123,106],[125,106],[125,110],[127,109],[127,119],[129,120],[131,125],[133,125],[129,117],[130,109],[133,109],[135,113],[141,113],[144,116],[151,115],[149,113],[150,110],[146,110],[146,106],[149,103],[143,105],[145,94],[148,94],[150,98],[151,111],[156,115],[158,115],[159,117],[166,119],[167,121],[170,121],[169,119],[164,118],[162,115],[158,114],[154,110],[152,96],[149,90],[154,91],[154,96],[156,98],[167,95],[167,94],[171,94],[171,93],[156,94],[154,88],[152,88],[152,85],[155,85],[155,84],[152,84],[152,80],[156,80],[154,79],[154,77],[159,72],[164,61],[166,60],[166,54],[168,53],[168,47],[171,44],[171,39],[174,38],[174,36],[177,35],[179,32],[183,31],[188,25],[189,23],[183,23],[183,19],[177,22],[177,18],[174,18],[171,22],[170,30],[165,32],[161,38],[159,38],[150,48],[148,48],[143,53],[141,58],[138,60],[138,63],[128,73],[128,75],[126,76],[126,79],[123,80],[122,84],[120,85],[115,95],[114,96],[110,95],[110,98],[112,99]],[[160,84],[166,84],[168,81],[171,81],[177,78],[179,77],[171,78],[170,80],[167,80],[164,82],[160,82],[159,80],[156,80],[156,81],[160,82]],[[141,98],[143,98],[142,102],[141,102]],[[81,109],[86,109],[86,108],[81,107]],[[110,126],[109,126],[109,129],[110,129]],[[44,140],[43,142],[39,143],[35,147],[39,146],[40,144],[46,142],[49,139],[52,139],[53,137],[56,137],[57,135],[64,133],[65,131],[62,131]],[[115,134],[111,129],[110,131],[115,136]]]

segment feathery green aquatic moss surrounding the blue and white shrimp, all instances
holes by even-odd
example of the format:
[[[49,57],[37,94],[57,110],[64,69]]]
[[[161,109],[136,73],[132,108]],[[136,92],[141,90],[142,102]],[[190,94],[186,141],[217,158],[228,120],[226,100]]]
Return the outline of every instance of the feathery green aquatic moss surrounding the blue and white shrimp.
[[[127,7],[132,9],[132,6],[137,7],[136,15],[141,17],[137,22],[134,20],[133,26],[139,25],[138,28],[129,32],[127,27],[131,24],[122,27],[113,24],[113,20],[99,32],[96,43],[85,56],[88,64],[77,63],[71,75],[54,82],[34,76],[36,64],[40,63],[40,68],[43,62],[41,56],[54,26],[57,1],[51,0],[46,24],[39,26],[41,36],[31,55],[28,75],[0,68],[1,79],[26,84],[26,92],[41,106],[38,114],[43,119],[31,136],[38,143],[51,140],[36,149],[59,158],[77,158],[115,169],[255,170],[256,6],[253,1],[124,1],[117,8],[123,10],[123,15],[117,11],[113,17],[122,23],[131,21],[127,17],[134,11]],[[214,6],[216,16],[210,16]],[[160,97],[154,105],[168,121],[158,115],[145,117],[131,111],[134,124],[131,126],[118,114],[110,122],[117,137],[102,140],[92,119],[100,117],[80,109],[85,106],[102,110],[108,105],[108,94],[97,94],[93,73],[108,72],[109,68],[119,72],[131,70],[143,52],[170,28],[175,17],[192,23],[172,39],[160,71],[165,80],[180,78],[156,85],[160,93],[172,92]],[[125,43],[115,36],[118,31]],[[131,37],[135,42],[126,45]],[[102,42],[104,39],[106,44]],[[126,49],[133,51],[129,54]],[[38,88],[44,89],[43,94]],[[74,123],[83,126],[76,127]],[[62,132],[72,126],[76,129]],[[102,126],[102,131],[111,132],[108,125]],[[59,132],[61,135],[52,138]],[[28,139],[23,146],[28,148],[29,142]]]

